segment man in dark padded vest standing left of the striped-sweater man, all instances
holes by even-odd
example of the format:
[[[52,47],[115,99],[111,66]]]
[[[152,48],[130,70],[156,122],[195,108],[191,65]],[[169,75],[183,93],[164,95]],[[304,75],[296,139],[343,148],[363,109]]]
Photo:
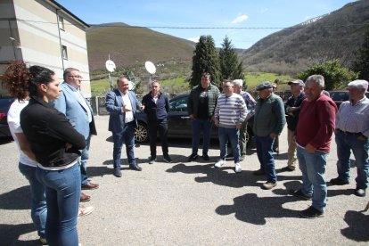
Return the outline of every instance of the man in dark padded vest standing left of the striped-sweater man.
[[[220,92],[217,86],[211,85],[210,74],[203,73],[201,85],[195,86],[188,97],[188,116],[192,119],[193,152],[188,161],[196,160],[199,156],[200,133],[203,132],[202,159],[209,160],[209,144],[211,127],[214,121],[214,109]]]

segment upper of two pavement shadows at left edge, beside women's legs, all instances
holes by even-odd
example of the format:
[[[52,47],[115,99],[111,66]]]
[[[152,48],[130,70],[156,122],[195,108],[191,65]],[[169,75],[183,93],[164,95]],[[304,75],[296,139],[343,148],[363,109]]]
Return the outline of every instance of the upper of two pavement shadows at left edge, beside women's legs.
[[[30,187],[22,186],[8,193],[0,194],[0,209],[30,209]],[[0,230],[0,232],[4,232]],[[0,241],[0,244],[2,242]],[[6,245],[6,244],[4,244]]]

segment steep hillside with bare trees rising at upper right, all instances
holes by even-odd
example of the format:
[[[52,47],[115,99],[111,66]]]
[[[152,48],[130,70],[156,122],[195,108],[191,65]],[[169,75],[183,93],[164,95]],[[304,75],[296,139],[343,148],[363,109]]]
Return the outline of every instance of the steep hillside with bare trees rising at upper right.
[[[275,32],[240,55],[248,71],[295,74],[309,64],[334,59],[351,67],[368,28],[369,1],[357,1]]]

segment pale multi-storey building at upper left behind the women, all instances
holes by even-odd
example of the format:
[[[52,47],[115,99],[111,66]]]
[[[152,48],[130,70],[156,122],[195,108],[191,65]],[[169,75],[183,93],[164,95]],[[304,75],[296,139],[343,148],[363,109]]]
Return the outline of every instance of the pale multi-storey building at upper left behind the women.
[[[23,60],[55,71],[62,81],[63,70],[73,67],[84,78],[81,90],[91,97],[88,27],[53,0],[0,0],[0,74],[9,61]]]

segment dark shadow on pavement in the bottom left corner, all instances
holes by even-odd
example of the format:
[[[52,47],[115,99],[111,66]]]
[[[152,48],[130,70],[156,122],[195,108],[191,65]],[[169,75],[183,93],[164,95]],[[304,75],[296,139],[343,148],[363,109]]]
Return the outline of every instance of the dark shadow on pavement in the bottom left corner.
[[[29,234],[36,231],[35,225],[32,223],[21,225],[6,225],[0,224],[0,244],[1,245],[40,245],[38,239],[31,241],[20,241],[19,237],[22,234]]]

